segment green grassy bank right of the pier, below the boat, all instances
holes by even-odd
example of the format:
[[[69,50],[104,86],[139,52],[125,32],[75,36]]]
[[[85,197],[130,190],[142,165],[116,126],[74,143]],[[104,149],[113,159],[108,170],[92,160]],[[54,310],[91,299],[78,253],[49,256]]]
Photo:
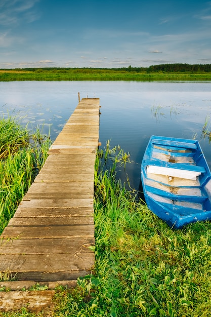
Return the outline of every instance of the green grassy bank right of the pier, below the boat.
[[[211,223],[173,230],[116,178],[128,153],[107,144],[95,173],[96,263],[40,313],[2,316],[192,316],[211,311]],[[132,163],[131,163],[132,164]]]

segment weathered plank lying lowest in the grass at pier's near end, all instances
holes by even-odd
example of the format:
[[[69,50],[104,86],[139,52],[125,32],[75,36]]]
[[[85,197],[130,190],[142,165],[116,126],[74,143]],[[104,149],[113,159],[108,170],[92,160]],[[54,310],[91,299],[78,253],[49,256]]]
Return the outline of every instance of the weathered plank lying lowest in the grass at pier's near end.
[[[0,310],[7,312],[25,306],[29,311],[38,312],[51,304],[54,294],[53,290],[1,292]]]

